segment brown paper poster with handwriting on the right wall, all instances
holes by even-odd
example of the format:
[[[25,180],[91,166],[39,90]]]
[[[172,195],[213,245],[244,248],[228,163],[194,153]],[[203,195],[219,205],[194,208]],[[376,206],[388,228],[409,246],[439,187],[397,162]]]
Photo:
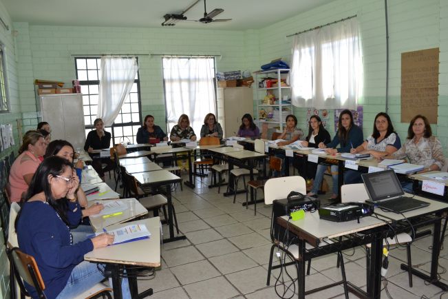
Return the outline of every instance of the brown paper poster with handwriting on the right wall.
[[[401,122],[423,114],[437,123],[438,48],[401,53]]]

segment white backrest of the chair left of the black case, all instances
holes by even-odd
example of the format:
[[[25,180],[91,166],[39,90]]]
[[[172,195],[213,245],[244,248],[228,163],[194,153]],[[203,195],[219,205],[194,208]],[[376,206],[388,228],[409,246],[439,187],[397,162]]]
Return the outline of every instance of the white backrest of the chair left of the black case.
[[[270,178],[264,184],[264,203],[271,205],[274,200],[288,197],[291,191],[306,194],[306,181],[301,176]]]

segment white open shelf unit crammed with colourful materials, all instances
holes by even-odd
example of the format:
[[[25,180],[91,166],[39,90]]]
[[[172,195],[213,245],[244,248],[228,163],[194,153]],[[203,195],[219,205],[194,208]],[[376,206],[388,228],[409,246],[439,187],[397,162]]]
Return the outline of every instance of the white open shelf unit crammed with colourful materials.
[[[279,69],[256,73],[255,87],[257,90],[255,94],[257,94],[258,103],[256,117],[260,130],[264,123],[268,123],[268,130],[283,132],[286,116],[292,114],[291,87],[285,83],[288,72],[289,69]],[[268,77],[272,79],[268,81]],[[259,84],[262,81],[265,84],[260,87]],[[267,98],[269,94],[275,100],[269,101]]]

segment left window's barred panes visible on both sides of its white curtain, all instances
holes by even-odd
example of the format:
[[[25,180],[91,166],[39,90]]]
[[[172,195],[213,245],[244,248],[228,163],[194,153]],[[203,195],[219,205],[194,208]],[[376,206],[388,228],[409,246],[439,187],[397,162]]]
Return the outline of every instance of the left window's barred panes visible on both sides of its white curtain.
[[[77,57],[75,59],[76,78],[81,85],[83,94],[83,110],[85,134],[94,130],[94,120],[98,110],[98,88],[100,78],[99,57]],[[112,127],[105,130],[112,134],[114,144],[120,142],[137,143],[137,130],[142,125],[140,114],[140,80],[138,72],[129,96],[123,103],[120,113],[115,118]]]

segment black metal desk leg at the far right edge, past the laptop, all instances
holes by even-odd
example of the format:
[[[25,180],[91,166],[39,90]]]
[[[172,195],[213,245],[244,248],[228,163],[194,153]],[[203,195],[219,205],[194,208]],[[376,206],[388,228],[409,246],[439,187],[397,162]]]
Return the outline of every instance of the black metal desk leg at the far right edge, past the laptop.
[[[438,215],[440,216],[440,215]],[[431,253],[431,274],[428,276],[421,271],[418,271],[414,268],[411,269],[412,274],[415,276],[422,278],[423,280],[427,280],[432,285],[436,287],[440,287],[443,291],[448,291],[448,285],[441,282],[437,278],[437,270],[438,270],[438,256],[440,254],[440,227],[442,226],[442,220],[439,218],[436,223],[434,223],[434,233],[432,235],[432,253]],[[401,264],[401,269],[408,271],[409,267],[405,264]]]

